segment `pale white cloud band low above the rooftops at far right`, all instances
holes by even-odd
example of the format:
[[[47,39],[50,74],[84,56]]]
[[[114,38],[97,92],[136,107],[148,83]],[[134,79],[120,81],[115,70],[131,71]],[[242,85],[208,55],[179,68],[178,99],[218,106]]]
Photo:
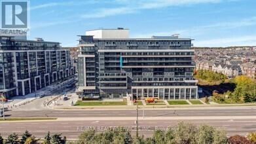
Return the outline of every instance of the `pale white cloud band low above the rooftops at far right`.
[[[253,46],[256,45],[256,35],[229,37],[223,39],[209,39],[194,41],[194,46]]]

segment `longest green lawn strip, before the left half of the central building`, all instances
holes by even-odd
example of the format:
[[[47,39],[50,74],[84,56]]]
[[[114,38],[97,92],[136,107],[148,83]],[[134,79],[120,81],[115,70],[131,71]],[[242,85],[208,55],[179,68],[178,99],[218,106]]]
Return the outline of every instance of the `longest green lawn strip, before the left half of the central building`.
[[[92,106],[92,105],[127,105],[126,101],[77,101],[75,105]]]

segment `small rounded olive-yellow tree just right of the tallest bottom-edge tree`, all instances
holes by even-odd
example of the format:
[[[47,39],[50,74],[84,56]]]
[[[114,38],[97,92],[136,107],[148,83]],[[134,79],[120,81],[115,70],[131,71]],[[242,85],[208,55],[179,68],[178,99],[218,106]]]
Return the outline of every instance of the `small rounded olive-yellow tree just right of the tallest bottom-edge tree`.
[[[207,124],[202,124],[198,126],[198,130],[196,131],[195,139],[197,143],[200,144],[211,144],[213,143],[213,132],[214,128]]]

